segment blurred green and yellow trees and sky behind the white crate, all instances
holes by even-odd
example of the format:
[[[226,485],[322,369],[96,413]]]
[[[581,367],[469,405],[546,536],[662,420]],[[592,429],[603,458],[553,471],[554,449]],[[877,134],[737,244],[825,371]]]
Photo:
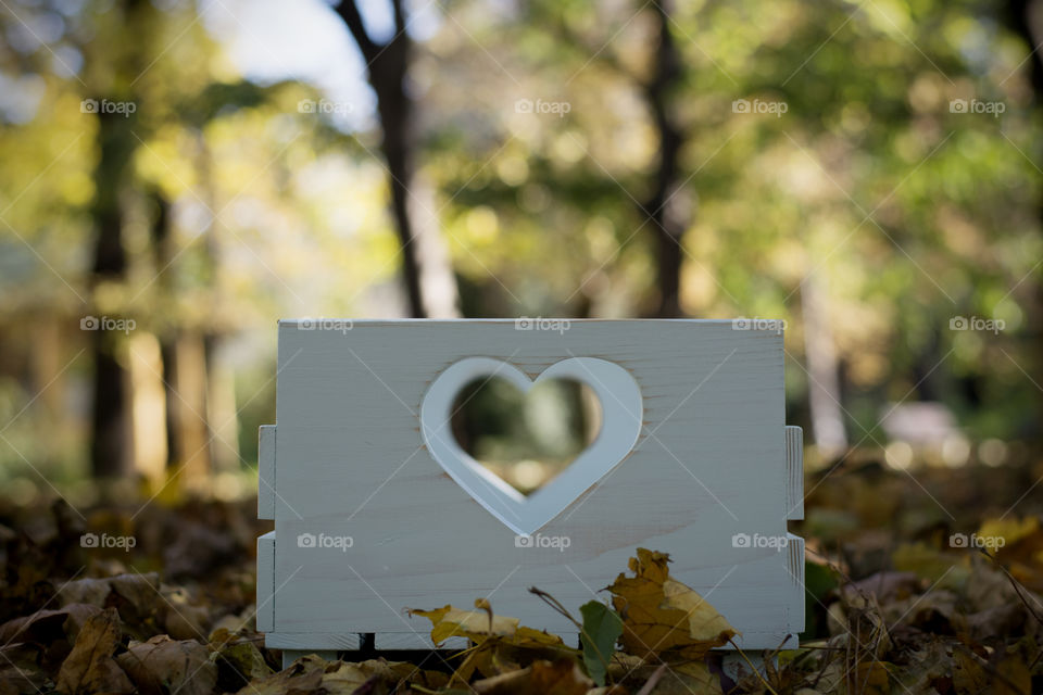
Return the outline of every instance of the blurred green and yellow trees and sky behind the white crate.
[[[1026,513],[1041,40],[1039,0],[0,0],[0,494],[251,494],[282,317],[744,317],[809,470]]]

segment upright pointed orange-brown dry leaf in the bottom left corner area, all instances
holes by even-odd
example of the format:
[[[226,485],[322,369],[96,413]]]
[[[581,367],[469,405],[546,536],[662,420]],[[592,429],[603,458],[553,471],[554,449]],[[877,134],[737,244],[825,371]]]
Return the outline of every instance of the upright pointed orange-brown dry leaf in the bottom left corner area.
[[[58,691],[65,695],[129,693],[134,690],[112,658],[120,643],[120,616],[108,608],[90,618],[58,673]]]

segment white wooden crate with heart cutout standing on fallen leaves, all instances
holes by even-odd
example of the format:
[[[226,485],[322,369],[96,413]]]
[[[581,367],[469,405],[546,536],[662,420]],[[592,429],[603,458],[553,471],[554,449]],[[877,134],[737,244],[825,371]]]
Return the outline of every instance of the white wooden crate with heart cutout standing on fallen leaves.
[[[643,546],[671,555],[671,574],[743,648],[795,646],[804,543],[787,520],[803,518],[803,471],[782,355],[774,321],[280,321],[277,425],[260,434],[259,516],[275,531],[257,541],[257,629],[288,650],[354,649],[364,633],[377,648],[430,647],[428,621],[405,608],[488,597],[573,643],[575,626],[527,589],[574,610],[604,601]],[[524,382],[565,362],[555,369],[599,393],[605,424],[618,417],[593,446],[632,447],[601,451],[551,490],[562,473],[537,493],[550,492],[539,514],[436,460],[451,367],[462,377],[506,363],[498,376]],[[561,514],[526,526],[558,498]]]

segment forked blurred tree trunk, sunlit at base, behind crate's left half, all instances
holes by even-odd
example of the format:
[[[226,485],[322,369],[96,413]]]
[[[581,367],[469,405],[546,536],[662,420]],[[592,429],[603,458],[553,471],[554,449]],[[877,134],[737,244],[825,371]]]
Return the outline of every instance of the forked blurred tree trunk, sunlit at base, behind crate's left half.
[[[394,36],[377,43],[366,31],[354,0],[336,10],[348,25],[366,61],[369,86],[377,94],[384,130],[380,149],[387,161],[391,214],[402,250],[402,275],[410,314],[452,317],[460,314],[460,296],[445,249],[431,212],[431,197],[416,173],[415,104],[406,92],[406,73],[413,41],[405,30],[402,0],[391,0]]]

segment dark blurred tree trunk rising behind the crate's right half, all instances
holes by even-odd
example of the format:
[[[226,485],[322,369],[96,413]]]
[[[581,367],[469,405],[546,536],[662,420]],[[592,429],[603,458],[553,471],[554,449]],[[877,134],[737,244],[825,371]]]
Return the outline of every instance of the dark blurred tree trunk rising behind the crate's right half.
[[[681,315],[682,237],[689,224],[690,205],[681,190],[678,157],[683,132],[671,112],[671,96],[681,76],[681,59],[670,33],[670,2],[652,3],[658,33],[653,74],[644,86],[645,100],[652,110],[659,136],[659,161],[652,197],[643,203],[643,212],[655,226],[659,300],[656,315],[674,318]]]

